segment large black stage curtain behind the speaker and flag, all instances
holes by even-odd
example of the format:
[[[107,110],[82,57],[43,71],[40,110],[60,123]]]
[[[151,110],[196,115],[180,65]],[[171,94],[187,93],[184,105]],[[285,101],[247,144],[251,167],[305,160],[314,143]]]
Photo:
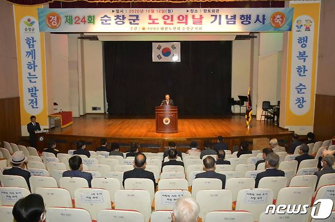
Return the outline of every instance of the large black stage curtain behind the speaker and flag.
[[[231,41],[181,42],[175,63],[152,62],[152,42],[104,42],[104,69],[109,114],[154,114],[165,93],[180,115],[230,113]]]

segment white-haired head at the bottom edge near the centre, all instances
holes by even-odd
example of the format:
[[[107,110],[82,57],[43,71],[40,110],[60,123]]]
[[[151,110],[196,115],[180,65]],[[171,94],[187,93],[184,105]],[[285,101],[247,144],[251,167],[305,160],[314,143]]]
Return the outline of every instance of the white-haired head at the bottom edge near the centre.
[[[171,218],[173,222],[198,222],[198,214],[200,206],[192,197],[179,198],[175,206]]]

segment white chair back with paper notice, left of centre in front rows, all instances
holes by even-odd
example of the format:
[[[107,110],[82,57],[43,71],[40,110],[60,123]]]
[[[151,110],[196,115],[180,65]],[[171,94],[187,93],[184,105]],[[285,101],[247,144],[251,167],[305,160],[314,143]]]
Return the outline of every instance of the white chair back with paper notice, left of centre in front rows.
[[[97,219],[100,210],[111,208],[108,191],[100,188],[76,189],[74,191],[74,203],[76,207],[88,210],[94,220]]]

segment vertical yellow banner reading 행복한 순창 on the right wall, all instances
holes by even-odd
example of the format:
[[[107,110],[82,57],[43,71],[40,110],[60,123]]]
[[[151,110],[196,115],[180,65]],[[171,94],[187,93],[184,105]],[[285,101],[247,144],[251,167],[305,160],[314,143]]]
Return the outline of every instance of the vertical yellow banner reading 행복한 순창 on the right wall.
[[[313,130],[320,4],[290,2],[294,13],[288,41],[285,127],[300,133]]]

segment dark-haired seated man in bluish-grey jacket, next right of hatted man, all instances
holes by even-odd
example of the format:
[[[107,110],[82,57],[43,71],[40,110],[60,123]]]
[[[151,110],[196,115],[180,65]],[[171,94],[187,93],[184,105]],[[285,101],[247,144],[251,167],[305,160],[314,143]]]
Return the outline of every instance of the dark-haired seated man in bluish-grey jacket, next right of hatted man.
[[[80,156],[72,156],[69,159],[71,171],[65,171],[63,177],[81,177],[87,180],[89,187],[91,187],[92,174],[82,172],[82,160]]]

